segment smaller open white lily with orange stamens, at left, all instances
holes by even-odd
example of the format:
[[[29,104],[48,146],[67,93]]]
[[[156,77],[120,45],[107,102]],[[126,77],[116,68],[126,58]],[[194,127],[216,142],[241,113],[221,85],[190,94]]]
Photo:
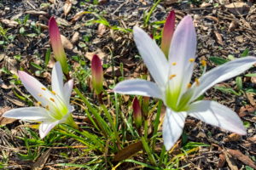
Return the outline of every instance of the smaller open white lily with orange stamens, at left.
[[[52,70],[51,91],[24,71],[19,71],[18,75],[26,90],[38,100],[38,106],[6,111],[3,114],[4,117],[20,119],[26,122],[41,122],[39,126],[41,139],[59,123],[78,127],[71,115],[73,106],[69,104],[73,80],[69,80],[63,85],[63,73],[59,62],[55,63]]]

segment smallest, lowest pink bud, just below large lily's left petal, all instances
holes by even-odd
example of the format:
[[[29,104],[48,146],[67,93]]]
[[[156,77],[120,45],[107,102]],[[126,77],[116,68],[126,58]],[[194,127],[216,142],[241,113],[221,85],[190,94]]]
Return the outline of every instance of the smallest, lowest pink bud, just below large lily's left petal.
[[[133,99],[132,108],[133,108],[133,120],[135,122],[136,127],[139,128],[143,124],[143,114],[142,114],[142,109],[139,104],[139,101],[137,100],[137,97]]]

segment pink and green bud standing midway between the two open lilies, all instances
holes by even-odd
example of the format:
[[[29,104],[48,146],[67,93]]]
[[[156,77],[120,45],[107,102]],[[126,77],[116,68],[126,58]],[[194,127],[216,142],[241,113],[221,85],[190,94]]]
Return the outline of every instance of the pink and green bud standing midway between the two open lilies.
[[[101,94],[103,90],[103,69],[102,61],[96,54],[91,59],[91,81],[96,94]]]

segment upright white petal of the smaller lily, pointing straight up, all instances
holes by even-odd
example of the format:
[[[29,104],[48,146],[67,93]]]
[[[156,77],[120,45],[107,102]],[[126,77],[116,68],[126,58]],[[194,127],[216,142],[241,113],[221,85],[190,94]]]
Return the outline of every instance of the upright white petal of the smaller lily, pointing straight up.
[[[64,91],[63,89],[63,73],[61,70],[61,64],[59,61],[57,61],[53,67],[52,73],[51,73],[51,88],[52,90],[61,97],[61,99],[64,99]]]

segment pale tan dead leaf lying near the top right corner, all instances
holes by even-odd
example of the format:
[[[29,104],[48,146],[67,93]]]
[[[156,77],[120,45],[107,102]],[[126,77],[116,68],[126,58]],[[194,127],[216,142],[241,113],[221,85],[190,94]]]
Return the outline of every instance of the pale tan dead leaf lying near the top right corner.
[[[247,14],[250,10],[250,7],[247,3],[230,3],[225,5],[225,8],[230,11],[230,13],[239,15],[239,14]]]

